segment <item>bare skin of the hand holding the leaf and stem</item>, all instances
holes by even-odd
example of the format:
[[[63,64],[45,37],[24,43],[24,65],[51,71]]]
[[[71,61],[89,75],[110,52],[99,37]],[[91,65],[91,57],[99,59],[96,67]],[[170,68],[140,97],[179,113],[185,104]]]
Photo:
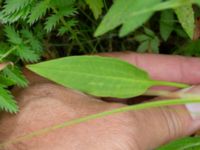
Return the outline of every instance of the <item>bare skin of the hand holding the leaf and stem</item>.
[[[200,60],[197,58],[131,52],[100,55],[118,57],[135,64],[146,70],[153,79],[195,85],[200,82]],[[20,112],[16,115],[1,113],[1,143],[67,120],[125,106],[72,91],[27,70],[25,75],[30,86],[13,90]],[[195,86],[189,92],[199,93],[200,87]],[[115,114],[58,129],[2,149],[153,150],[171,140],[190,135],[199,128],[200,119],[192,118],[186,107],[179,105]]]

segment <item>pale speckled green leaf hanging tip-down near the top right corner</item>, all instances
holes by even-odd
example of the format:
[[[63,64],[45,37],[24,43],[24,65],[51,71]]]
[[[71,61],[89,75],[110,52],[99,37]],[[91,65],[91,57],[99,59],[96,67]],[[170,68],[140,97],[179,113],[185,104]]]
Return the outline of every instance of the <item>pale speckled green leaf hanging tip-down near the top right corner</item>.
[[[191,0],[184,0],[184,1],[190,2]],[[195,28],[194,10],[192,8],[192,4],[176,8],[175,12],[183,29],[192,39]]]

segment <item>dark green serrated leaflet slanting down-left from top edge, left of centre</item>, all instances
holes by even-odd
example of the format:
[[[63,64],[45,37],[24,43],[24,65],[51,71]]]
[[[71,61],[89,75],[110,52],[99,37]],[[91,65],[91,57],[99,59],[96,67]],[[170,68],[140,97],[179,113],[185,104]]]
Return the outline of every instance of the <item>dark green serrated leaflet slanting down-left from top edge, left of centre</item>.
[[[44,16],[47,10],[50,8],[50,0],[43,0],[36,4],[31,10],[31,14],[28,19],[28,23],[33,24],[42,16]]]

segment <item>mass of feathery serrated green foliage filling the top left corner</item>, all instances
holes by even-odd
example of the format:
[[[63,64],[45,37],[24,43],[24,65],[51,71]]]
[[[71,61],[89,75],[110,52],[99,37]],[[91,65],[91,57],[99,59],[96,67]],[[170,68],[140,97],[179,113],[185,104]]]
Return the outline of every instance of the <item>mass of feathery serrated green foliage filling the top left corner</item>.
[[[52,15],[48,16],[46,18],[46,22],[44,23],[45,30],[50,32],[56,25],[59,24],[59,22],[65,22],[64,17],[76,14],[74,2],[75,0],[20,0],[20,2],[8,0],[6,1],[4,9],[1,12],[0,19],[4,23],[14,23],[23,19],[27,24],[32,25],[44,17],[47,12],[51,11]],[[66,24],[67,21],[60,24],[60,28],[63,28],[63,26],[65,28],[69,28]]]

